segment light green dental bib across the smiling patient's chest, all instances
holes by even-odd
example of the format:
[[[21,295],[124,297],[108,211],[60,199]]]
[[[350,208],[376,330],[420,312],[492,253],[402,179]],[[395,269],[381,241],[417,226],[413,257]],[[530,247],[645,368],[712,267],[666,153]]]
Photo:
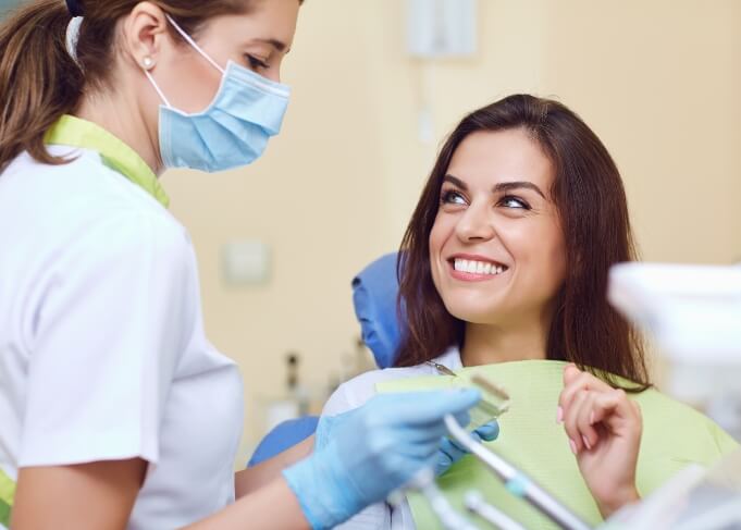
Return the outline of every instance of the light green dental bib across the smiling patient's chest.
[[[486,445],[524,471],[546,491],[591,525],[602,517],[571,453],[564,427],[556,423],[556,407],[563,390],[565,362],[526,360],[464,368],[503,386],[511,397],[509,411],[499,418],[498,440]],[[453,377],[400,379],[376,384],[379,393],[439,390],[453,386]],[[688,464],[711,466],[739,444],[711,419],[660,392],[647,390],[631,395],[641,406],[643,437],[637,482],[647,495]],[[529,529],[557,529],[526,501],[515,497],[482,464],[464,457],[437,479],[441,490],[460,513],[464,496],[478,490],[490,503]],[[442,529],[427,500],[407,496],[417,528]],[[472,517],[472,516],[471,516]],[[476,523],[477,519],[471,518]],[[478,521],[481,523],[481,521]]]

